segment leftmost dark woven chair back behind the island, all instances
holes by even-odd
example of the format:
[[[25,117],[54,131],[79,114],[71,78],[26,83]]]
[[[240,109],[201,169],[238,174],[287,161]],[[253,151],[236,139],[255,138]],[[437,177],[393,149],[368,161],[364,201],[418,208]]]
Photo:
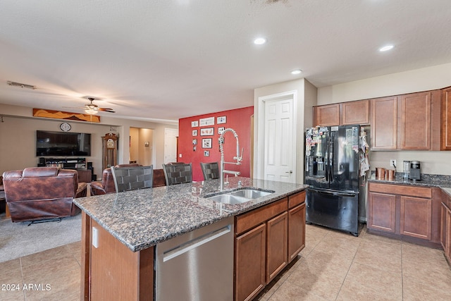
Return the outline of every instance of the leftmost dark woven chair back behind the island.
[[[152,188],[154,166],[111,166],[116,192]]]

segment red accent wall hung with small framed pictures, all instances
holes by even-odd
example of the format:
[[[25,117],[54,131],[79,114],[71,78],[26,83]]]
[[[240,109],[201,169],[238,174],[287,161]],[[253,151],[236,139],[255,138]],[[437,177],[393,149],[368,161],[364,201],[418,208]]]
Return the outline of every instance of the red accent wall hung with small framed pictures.
[[[240,176],[250,176],[250,148],[251,148],[251,116],[254,114],[254,107],[221,111],[217,113],[209,113],[199,116],[181,118],[178,121],[178,161],[192,163],[192,180],[202,181],[202,169],[200,162],[221,161],[221,152],[219,152],[219,134],[218,128],[233,128],[238,135],[240,142],[240,152],[244,148],[241,165],[226,164],[226,169],[232,171],[240,171]],[[218,117],[226,117],[226,123],[218,124]],[[214,125],[199,126],[199,119],[214,117]],[[192,121],[197,121],[198,126],[192,127]],[[206,128],[214,128],[213,135],[201,136],[201,130]],[[197,136],[193,136],[192,131],[197,130]],[[202,148],[202,139],[211,138],[211,148]],[[193,140],[197,140],[196,150],[193,150]],[[237,153],[236,139],[232,132],[224,135],[224,161],[233,162],[233,156]],[[210,156],[204,156],[204,151],[209,151]],[[231,175],[229,175],[231,176]]]

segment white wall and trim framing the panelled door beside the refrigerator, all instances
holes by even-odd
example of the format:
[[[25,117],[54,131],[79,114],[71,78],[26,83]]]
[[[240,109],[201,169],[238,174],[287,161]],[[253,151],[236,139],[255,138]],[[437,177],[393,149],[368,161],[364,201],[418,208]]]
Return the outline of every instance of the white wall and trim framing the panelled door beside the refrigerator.
[[[275,85],[260,87],[254,90],[254,176],[257,176],[257,166],[263,166],[263,158],[257,155],[259,149],[258,133],[259,133],[259,97],[265,97],[283,92],[296,92],[296,135],[295,152],[296,161],[296,182],[304,183],[304,124],[311,126],[311,106],[316,105],[316,87],[304,78],[299,80],[291,80],[289,82],[280,82]],[[307,107],[306,107],[307,106]],[[263,116],[262,116],[263,118]],[[307,122],[306,122],[307,120]]]

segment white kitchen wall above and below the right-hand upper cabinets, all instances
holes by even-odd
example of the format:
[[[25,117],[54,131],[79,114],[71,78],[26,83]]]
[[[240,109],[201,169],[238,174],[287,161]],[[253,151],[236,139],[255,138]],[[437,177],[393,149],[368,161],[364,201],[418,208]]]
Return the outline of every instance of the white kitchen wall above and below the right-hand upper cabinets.
[[[451,63],[321,87],[318,90],[318,104],[370,99],[449,86]],[[421,173],[451,175],[451,152],[371,152],[371,170],[376,167],[390,168],[390,159],[397,159],[396,170],[399,172],[402,171],[402,161],[418,160],[421,161]]]

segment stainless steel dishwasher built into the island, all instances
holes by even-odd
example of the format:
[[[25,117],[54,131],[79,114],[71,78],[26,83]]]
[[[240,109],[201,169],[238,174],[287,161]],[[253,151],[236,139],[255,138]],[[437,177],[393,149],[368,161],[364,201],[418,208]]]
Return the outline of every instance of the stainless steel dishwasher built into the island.
[[[233,300],[233,216],[156,245],[156,300]]]

